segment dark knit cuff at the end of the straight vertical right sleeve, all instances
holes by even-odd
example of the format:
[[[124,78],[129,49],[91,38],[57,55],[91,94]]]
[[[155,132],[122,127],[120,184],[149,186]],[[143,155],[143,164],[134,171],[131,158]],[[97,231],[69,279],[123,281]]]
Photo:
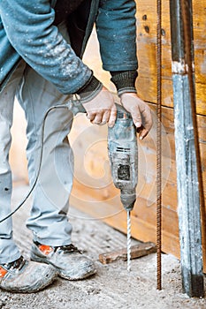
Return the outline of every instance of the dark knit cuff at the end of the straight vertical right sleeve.
[[[136,71],[111,72],[111,81],[116,86],[118,95],[126,92],[137,93],[135,88],[137,75]]]

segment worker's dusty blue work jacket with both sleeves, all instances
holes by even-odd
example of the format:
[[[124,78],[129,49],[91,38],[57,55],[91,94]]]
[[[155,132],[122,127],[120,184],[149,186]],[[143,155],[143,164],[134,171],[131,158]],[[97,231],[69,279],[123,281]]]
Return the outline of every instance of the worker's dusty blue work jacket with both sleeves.
[[[0,0],[0,90],[23,58],[61,93],[76,93],[92,74],[81,57],[94,24],[103,69],[137,69],[134,0],[88,0],[66,20],[71,44],[54,25],[56,1]]]

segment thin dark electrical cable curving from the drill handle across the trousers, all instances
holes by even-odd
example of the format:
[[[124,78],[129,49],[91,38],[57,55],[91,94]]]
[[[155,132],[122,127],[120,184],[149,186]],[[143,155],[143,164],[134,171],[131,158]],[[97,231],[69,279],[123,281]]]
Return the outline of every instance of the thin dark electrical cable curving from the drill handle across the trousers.
[[[6,219],[8,219],[9,217],[11,217],[11,215],[14,215],[20,207],[22,207],[24,205],[24,203],[27,201],[27,199],[29,198],[29,196],[31,195],[31,193],[33,192],[34,190],[34,187],[39,179],[39,176],[40,176],[40,171],[41,171],[41,167],[42,167],[42,154],[43,154],[43,138],[44,138],[44,128],[45,128],[45,122],[46,122],[46,119],[48,117],[48,115],[50,114],[50,111],[53,110],[53,109],[68,109],[68,106],[67,105],[55,105],[55,106],[52,106],[50,107],[50,109],[48,109],[43,117],[43,120],[42,120],[42,134],[41,134],[41,153],[40,153],[40,162],[39,162],[39,167],[38,167],[38,170],[37,170],[37,173],[36,173],[36,177],[34,179],[34,184],[31,186],[29,192],[27,192],[27,195],[26,197],[24,198],[24,200],[22,200],[19,205],[14,208],[11,213],[9,213],[8,215],[4,216],[3,219],[0,220],[0,223],[1,222],[4,222]]]

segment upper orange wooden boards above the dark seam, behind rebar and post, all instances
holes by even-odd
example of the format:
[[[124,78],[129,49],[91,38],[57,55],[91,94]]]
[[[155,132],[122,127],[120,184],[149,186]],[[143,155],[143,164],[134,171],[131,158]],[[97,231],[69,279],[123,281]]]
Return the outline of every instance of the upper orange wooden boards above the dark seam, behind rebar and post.
[[[206,115],[206,57],[205,57],[205,4],[194,1],[194,44],[195,83],[197,113]],[[172,107],[172,54],[169,1],[162,7],[163,43],[163,105]],[[151,0],[137,1],[137,54],[139,59],[139,79],[136,87],[141,97],[148,102],[156,102],[156,3]]]

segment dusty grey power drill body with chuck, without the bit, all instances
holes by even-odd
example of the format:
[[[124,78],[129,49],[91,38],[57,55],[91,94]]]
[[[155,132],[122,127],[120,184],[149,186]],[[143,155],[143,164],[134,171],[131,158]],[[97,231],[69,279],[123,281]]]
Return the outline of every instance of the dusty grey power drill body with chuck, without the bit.
[[[133,119],[121,105],[117,105],[116,123],[108,128],[108,153],[114,185],[120,189],[120,199],[126,211],[136,200],[138,181],[138,147]]]

